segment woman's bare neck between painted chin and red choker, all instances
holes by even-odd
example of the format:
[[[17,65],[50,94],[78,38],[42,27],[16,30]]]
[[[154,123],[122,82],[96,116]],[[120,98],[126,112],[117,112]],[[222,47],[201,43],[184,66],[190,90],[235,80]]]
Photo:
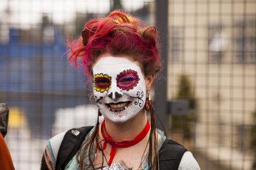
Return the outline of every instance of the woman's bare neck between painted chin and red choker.
[[[146,112],[139,112],[136,116],[122,123],[111,122],[105,120],[106,132],[116,142],[123,140],[133,140],[146,126],[148,118]]]

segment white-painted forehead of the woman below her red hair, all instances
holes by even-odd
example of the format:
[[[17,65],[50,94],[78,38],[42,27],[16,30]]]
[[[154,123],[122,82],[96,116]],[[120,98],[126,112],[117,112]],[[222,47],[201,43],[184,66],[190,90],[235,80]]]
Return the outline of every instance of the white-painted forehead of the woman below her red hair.
[[[100,58],[92,67],[94,74],[96,73],[113,73],[119,74],[126,69],[140,71],[139,62],[131,61],[128,58],[118,56],[106,56]]]

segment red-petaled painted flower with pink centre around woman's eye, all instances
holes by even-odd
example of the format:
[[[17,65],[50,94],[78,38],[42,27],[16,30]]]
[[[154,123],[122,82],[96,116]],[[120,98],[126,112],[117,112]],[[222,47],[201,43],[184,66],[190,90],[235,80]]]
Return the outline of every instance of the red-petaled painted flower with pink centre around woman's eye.
[[[139,83],[139,75],[137,71],[131,69],[125,70],[117,75],[117,87],[122,90],[129,91]]]

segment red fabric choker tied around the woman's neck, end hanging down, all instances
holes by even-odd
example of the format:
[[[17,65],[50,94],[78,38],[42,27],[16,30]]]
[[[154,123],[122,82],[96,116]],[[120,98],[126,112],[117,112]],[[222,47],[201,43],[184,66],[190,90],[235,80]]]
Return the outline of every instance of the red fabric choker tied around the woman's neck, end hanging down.
[[[106,136],[103,133],[103,130],[106,134]],[[108,161],[108,166],[110,166],[113,162],[113,159],[115,157],[116,154],[116,149],[118,148],[127,148],[129,146],[133,146],[134,144],[137,144],[138,142],[140,142],[143,138],[145,138],[145,136],[148,134],[148,131],[150,130],[150,122],[147,122],[145,128],[143,128],[143,130],[135,137],[133,138],[133,140],[124,140],[121,142],[115,142],[106,132],[106,128],[105,128],[105,120],[103,120],[102,124],[101,124],[101,134],[104,138],[104,144],[103,144],[103,150],[106,149],[106,144],[109,143],[111,145],[111,151],[110,151],[110,159]]]

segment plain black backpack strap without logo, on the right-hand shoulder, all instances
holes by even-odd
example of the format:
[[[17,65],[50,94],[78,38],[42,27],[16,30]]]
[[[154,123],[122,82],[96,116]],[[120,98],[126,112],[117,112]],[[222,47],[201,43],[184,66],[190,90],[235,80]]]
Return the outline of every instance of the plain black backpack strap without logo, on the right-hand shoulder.
[[[178,170],[181,159],[186,151],[187,148],[178,142],[166,140],[160,148],[159,169]]]

